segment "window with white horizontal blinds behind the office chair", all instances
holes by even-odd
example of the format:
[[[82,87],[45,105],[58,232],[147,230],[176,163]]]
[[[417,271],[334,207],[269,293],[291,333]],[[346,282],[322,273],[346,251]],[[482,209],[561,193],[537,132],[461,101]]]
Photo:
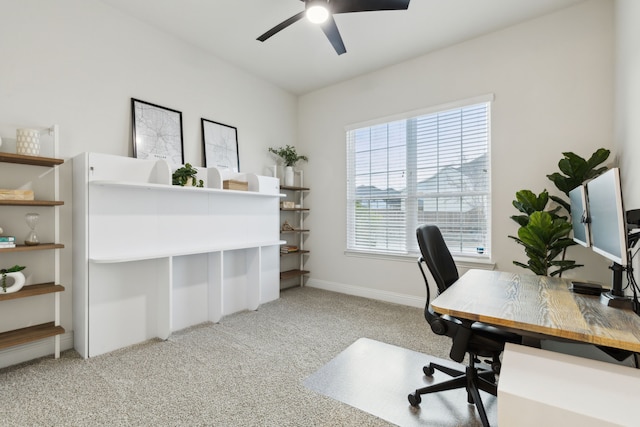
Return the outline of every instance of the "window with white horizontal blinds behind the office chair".
[[[347,131],[347,250],[416,254],[419,224],[489,258],[490,100]]]

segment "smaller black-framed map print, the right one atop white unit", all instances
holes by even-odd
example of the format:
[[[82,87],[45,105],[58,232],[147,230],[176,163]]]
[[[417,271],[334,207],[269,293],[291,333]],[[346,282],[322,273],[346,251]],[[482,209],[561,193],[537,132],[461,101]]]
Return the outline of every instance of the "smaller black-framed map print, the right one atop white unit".
[[[240,172],[238,129],[222,123],[202,119],[204,166]]]

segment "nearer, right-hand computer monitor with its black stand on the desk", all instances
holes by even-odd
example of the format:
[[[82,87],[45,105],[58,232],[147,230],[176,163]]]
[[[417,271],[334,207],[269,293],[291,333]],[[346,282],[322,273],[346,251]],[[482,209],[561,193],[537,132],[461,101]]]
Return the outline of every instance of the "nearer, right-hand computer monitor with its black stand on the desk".
[[[622,273],[627,270],[629,255],[620,169],[609,169],[587,182],[586,187],[591,248],[613,261],[611,291],[603,294],[602,301],[616,307],[629,306],[631,300],[625,297],[622,289]]]

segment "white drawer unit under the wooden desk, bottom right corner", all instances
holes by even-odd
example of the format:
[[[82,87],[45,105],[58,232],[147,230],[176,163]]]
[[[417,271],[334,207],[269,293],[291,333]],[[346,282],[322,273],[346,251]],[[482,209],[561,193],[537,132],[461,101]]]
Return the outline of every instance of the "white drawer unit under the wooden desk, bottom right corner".
[[[498,425],[637,426],[640,369],[507,344]]]

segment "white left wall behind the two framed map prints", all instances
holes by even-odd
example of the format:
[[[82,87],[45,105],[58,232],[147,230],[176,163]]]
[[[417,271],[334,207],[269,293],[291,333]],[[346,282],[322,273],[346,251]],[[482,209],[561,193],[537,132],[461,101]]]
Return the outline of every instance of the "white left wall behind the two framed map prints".
[[[185,161],[196,166],[201,117],[238,128],[246,172],[265,174],[273,164],[267,147],[297,140],[295,96],[99,1],[0,0],[0,11],[0,150],[13,150],[16,128],[57,123],[62,158],[85,151],[130,156],[132,97],[182,112]],[[67,331],[73,330],[70,170],[62,171]],[[1,221],[8,213],[0,212]]]

